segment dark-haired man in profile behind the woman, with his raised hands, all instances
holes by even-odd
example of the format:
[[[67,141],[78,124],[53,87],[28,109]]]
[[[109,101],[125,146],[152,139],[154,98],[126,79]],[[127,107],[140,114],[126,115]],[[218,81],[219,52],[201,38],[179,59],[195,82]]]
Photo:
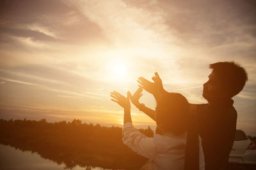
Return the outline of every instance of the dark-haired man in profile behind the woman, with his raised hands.
[[[216,62],[210,64],[212,73],[204,83],[203,97],[207,104],[190,104],[190,112],[196,118],[198,131],[204,148],[205,170],[227,169],[228,157],[236,134],[237,112],[232,97],[243,90],[248,80],[245,69],[235,62]],[[154,82],[138,78],[140,87],[154,95],[156,101],[168,93],[158,74]],[[139,103],[142,89],[132,96],[132,103],[149,117],[155,118],[156,112]],[[155,120],[155,119],[154,119]]]

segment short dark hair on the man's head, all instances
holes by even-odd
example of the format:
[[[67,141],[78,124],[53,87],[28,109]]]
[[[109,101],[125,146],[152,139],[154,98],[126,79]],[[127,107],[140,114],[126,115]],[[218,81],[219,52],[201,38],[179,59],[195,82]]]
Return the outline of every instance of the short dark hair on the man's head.
[[[216,62],[210,64],[209,67],[220,78],[220,83],[228,97],[239,94],[243,90],[246,81],[248,81],[245,69],[234,61]]]

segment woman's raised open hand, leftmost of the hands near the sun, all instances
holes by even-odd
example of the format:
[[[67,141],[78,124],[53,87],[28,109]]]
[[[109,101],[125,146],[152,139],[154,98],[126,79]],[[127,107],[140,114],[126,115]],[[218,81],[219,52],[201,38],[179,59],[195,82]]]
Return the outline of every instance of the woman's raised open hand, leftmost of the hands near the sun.
[[[115,103],[119,104],[124,109],[131,108],[131,103],[130,103],[130,99],[128,96],[128,92],[127,92],[127,97],[123,96],[122,94],[120,94],[116,91],[113,91],[110,94],[111,94],[110,96],[113,98],[113,99],[111,99],[111,101],[114,101]],[[130,92],[130,94],[131,94],[131,92]]]

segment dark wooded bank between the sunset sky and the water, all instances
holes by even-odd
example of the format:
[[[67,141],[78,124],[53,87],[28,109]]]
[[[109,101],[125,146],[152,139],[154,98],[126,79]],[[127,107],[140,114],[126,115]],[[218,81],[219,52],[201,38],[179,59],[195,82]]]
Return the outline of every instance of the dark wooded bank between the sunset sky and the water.
[[[138,129],[148,137],[154,132]],[[140,169],[147,159],[122,143],[121,127],[105,127],[72,122],[35,120],[0,120],[0,143],[22,151],[38,153],[45,159],[67,168],[103,167],[106,169]]]

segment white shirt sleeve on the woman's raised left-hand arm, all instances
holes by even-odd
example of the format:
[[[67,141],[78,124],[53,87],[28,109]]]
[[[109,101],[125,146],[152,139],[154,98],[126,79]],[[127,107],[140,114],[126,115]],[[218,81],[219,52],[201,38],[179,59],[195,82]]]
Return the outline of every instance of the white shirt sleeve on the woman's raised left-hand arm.
[[[150,160],[154,159],[154,138],[148,138],[145,134],[142,134],[134,128],[131,122],[124,124],[122,141],[139,155]]]

